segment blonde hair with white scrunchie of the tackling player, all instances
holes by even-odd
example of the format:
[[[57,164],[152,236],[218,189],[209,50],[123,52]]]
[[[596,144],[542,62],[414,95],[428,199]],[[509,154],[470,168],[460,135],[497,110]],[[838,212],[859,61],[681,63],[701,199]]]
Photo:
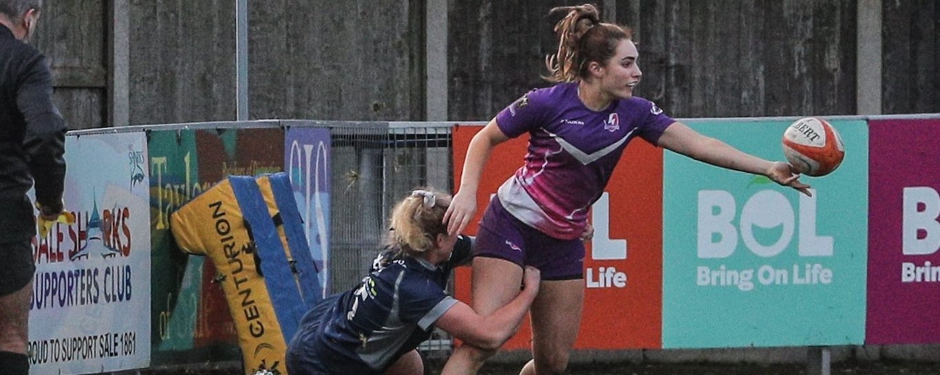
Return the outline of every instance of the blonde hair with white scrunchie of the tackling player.
[[[409,256],[431,249],[437,235],[447,233],[444,212],[450,198],[446,193],[421,188],[402,199],[392,210],[385,244]]]

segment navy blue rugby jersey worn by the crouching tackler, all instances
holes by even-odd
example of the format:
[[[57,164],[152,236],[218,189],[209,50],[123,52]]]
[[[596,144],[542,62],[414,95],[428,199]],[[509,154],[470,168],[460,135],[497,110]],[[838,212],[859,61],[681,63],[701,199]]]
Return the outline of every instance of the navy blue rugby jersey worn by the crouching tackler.
[[[447,280],[470,259],[471,243],[461,235],[451,258],[438,266],[384,250],[358,287],[324,299],[305,315],[290,342],[291,373],[382,373],[415,350],[457,304],[446,293]]]

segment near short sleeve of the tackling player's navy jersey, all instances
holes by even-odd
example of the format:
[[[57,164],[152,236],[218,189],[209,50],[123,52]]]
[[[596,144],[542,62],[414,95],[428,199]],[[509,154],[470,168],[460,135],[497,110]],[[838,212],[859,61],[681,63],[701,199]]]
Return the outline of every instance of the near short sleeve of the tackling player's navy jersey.
[[[457,300],[424,277],[406,277],[402,280],[399,301],[401,321],[417,324],[427,331]]]

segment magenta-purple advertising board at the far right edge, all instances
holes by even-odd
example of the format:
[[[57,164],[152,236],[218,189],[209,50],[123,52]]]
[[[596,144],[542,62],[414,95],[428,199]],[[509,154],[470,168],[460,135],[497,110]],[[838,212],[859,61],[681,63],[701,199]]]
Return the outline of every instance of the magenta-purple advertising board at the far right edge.
[[[940,342],[940,118],[870,121],[866,343]]]

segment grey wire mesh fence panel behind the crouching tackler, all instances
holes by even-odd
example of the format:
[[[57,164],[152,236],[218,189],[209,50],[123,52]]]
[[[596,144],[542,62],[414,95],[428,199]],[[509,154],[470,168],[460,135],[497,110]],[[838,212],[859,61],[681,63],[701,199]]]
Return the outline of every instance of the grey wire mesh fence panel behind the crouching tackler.
[[[352,289],[382,246],[396,202],[416,187],[451,191],[450,123],[312,121],[330,129],[329,292]],[[452,287],[449,287],[452,289]],[[450,337],[435,330],[419,350],[445,357]]]

